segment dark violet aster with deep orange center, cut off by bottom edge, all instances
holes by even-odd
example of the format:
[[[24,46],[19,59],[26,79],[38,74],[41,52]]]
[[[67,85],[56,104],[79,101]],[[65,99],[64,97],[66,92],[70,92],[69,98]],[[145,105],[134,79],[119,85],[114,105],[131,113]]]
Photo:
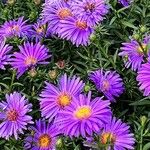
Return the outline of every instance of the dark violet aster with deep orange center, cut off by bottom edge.
[[[25,139],[25,150],[54,150],[59,134],[56,126],[38,120],[30,129],[32,134]]]

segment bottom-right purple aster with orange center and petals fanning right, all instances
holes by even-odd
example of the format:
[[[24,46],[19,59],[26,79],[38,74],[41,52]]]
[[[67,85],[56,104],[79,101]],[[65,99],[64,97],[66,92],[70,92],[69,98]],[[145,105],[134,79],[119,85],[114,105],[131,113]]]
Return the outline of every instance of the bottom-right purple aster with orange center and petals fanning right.
[[[135,139],[129,128],[120,119],[112,118],[111,122],[105,125],[100,135],[101,143],[109,143],[111,146],[108,147],[108,150],[134,150]]]

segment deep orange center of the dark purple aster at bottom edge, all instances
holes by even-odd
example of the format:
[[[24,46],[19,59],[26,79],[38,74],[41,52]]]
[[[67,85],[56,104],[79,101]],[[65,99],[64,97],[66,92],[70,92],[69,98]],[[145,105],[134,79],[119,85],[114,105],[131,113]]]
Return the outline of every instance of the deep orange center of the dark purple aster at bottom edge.
[[[51,144],[51,137],[48,134],[43,134],[39,137],[38,146],[41,148],[48,148]]]

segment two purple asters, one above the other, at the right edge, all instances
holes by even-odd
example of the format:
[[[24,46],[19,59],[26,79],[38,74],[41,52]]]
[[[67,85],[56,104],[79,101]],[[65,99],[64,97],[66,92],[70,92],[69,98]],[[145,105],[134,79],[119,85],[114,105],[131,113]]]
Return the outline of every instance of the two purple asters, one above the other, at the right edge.
[[[150,36],[146,35],[141,41],[131,39],[123,43],[122,52],[125,67],[137,72],[137,81],[140,90],[144,90],[144,96],[150,96]]]

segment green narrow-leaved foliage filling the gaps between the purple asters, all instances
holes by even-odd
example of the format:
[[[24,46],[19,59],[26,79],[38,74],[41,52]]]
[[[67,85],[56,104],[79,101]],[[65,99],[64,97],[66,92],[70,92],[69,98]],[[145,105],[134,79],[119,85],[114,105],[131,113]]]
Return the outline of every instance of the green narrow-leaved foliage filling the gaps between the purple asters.
[[[6,20],[25,16],[30,23],[37,20],[41,12],[41,5],[36,5],[32,0],[16,0],[10,6],[0,2],[0,24]],[[117,70],[125,83],[124,94],[112,104],[112,110],[116,117],[121,118],[131,126],[135,134],[135,150],[150,149],[150,98],[143,97],[136,81],[136,72],[124,67],[123,60],[118,56],[122,42],[129,41],[129,37],[139,38],[140,34],[150,32],[150,1],[135,0],[131,6],[122,8],[116,0],[110,0],[110,12],[102,24],[95,28],[91,36],[91,44],[88,47],[75,47],[70,42],[60,40],[57,37],[45,39],[43,43],[52,51],[51,63],[46,67],[37,68],[36,75],[28,72],[19,80],[16,72],[10,67],[0,71],[0,99],[4,99],[6,93],[20,91],[27,96],[33,104],[32,116],[40,117],[38,95],[44,86],[44,81],[57,83],[57,79],[51,79],[50,70],[57,70],[57,77],[64,72],[79,75],[85,82],[85,92],[92,90],[95,96],[100,95],[88,79],[88,73],[98,68]],[[16,50],[17,45],[24,40],[8,40]],[[65,67],[58,68],[56,63],[65,60]],[[143,121],[145,116],[145,121]],[[0,149],[22,150],[23,138],[15,141],[0,139]],[[61,141],[62,140],[62,141]],[[82,144],[83,139],[68,139],[62,137],[57,146],[58,150],[88,149]],[[94,149],[94,148],[93,148]]]

